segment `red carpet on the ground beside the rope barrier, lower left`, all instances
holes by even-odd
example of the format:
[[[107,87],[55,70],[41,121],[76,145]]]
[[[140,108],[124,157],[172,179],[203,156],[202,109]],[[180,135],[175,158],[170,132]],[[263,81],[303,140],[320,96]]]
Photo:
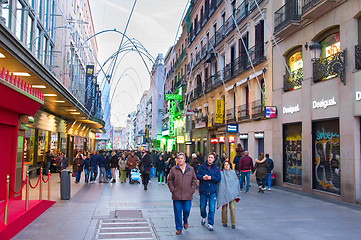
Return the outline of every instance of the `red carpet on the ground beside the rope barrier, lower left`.
[[[34,219],[50,208],[55,202],[47,200],[30,200],[29,209],[25,210],[24,200],[9,200],[8,224],[4,225],[4,213],[0,215],[0,239],[10,239]],[[0,203],[0,209],[4,202]]]

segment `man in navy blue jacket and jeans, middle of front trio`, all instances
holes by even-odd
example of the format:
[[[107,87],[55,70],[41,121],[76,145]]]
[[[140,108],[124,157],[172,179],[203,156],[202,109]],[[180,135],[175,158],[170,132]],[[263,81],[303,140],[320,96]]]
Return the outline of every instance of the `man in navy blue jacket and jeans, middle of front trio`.
[[[208,229],[213,231],[214,212],[216,210],[217,186],[221,181],[221,172],[217,165],[214,164],[216,156],[213,153],[208,154],[207,161],[205,161],[197,171],[197,179],[199,183],[200,194],[200,208],[201,208],[201,224],[206,224],[207,217],[207,202],[209,204],[208,213]]]

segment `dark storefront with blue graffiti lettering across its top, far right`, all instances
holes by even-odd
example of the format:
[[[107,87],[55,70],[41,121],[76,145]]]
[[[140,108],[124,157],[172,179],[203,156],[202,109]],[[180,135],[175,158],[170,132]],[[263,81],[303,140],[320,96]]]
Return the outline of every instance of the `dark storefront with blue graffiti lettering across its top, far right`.
[[[313,188],[341,194],[339,120],[312,124]]]

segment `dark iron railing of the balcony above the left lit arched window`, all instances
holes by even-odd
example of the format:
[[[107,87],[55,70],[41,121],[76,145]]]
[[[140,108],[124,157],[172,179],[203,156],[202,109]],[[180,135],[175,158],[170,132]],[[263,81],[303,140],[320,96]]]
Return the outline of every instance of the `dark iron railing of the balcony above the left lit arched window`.
[[[289,24],[291,21],[300,21],[298,13],[298,0],[289,0],[275,12],[275,32]]]

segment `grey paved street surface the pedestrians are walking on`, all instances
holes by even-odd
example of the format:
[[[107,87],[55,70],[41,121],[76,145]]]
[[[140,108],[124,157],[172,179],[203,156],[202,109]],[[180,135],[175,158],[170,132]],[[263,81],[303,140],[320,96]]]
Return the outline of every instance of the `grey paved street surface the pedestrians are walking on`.
[[[236,229],[231,229],[230,223],[228,228],[222,226],[221,209],[216,210],[214,232],[202,227],[196,192],[189,229],[177,236],[167,185],[159,185],[152,179],[148,191],[144,191],[141,184],[128,182],[85,184],[83,177],[79,184],[72,178],[70,200],[60,200],[59,178],[52,175],[50,197],[56,204],[13,239],[356,240],[361,236],[360,206],[280,187],[261,194],[255,183],[250,193],[242,193],[236,203]],[[43,196],[47,196],[46,185]],[[37,197],[38,192],[31,192],[31,199]],[[117,220],[110,220],[115,216]],[[109,227],[111,224],[106,226],[107,222],[113,222],[113,229]]]

